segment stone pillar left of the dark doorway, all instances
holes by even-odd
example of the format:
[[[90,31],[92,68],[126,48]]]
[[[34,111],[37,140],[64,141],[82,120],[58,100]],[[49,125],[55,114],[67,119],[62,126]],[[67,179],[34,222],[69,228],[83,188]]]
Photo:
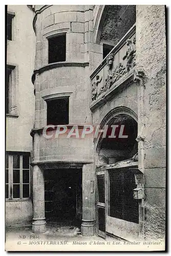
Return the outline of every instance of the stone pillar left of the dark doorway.
[[[38,165],[33,166],[33,233],[45,233],[45,189],[44,170]]]

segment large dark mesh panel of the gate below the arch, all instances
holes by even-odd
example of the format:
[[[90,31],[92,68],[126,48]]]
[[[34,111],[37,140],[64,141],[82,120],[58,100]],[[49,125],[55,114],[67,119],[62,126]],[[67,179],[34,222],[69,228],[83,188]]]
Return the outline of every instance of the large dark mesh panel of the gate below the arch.
[[[139,223],[139,202],[133,197],[136,188],[134,174],[129,168],[111,170],[109,216]]]

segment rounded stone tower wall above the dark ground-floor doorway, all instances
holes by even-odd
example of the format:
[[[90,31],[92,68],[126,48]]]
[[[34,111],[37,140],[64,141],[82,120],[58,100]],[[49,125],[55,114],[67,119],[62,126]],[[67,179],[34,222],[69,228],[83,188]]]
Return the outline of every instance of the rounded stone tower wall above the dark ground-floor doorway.
[[[40,10],[35,22],[35,128],[47,125],[47,97],[69,96],[69,124],[90,124],[91,87],[89,50],[92,10],[89,6],[49,6]],[[93,29],[93,27],[92,27]],[[66,61],[48,64],[48,38],[66,33]],[[93,33],[93,32],[92,32]],[[92,47],[92,46],[91,46]],[[51,66],[51,68],[49,68]],[[43,71],[41,68],[44,67]],[[87,140],[87,139],[86,139]],[[45,141],[39,136],[39,160],[89,161],[92,139]],[[79,154],[78,154],[79,153]]]

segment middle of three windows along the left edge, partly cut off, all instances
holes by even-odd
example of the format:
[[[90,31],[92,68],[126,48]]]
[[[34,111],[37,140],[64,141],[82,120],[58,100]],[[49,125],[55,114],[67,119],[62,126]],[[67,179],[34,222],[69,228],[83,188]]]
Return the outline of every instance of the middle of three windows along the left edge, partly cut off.
[[[7,65],[6,70],[6,114],[17,115],[15,105],[15,66]]]

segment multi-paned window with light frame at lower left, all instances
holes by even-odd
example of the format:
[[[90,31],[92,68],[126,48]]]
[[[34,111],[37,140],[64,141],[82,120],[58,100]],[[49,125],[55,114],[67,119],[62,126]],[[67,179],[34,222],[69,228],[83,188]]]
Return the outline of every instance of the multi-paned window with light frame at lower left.
[[[6,199],[30,198],[30,154],[6,154]]]

